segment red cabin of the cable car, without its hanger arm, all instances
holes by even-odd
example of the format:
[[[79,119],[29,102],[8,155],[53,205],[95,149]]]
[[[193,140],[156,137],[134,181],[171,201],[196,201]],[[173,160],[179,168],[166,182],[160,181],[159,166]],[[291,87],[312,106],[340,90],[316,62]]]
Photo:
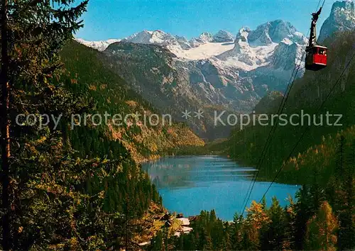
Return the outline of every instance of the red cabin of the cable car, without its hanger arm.
[[[311,71],[318,71],[327,67],[327,48],[320,45],[313,45],[306,49],[305,67]]]

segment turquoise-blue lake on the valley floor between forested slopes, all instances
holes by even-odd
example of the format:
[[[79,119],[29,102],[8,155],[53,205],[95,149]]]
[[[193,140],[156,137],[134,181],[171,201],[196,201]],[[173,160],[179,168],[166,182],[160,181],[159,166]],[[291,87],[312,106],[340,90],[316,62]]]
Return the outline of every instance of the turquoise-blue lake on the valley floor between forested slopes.
[[[202,210],[214,209],[219,218],[232,221],[241,212],[249,184],[256,170],[244,167],[226,157],[184,156],[165,157],[143,164],[157,186],[163,205],[169,211],[195,216]],[[256,182],[248,202],[259,201],[270,182]],[[286,198],[295,198],[300,186],[273,184],[266,195],[268,206],[276,196],[282,206]]]

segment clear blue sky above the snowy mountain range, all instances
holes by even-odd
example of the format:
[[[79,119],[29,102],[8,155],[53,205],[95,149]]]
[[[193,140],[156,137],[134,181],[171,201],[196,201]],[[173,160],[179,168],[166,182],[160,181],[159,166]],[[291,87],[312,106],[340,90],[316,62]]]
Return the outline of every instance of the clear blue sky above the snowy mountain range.
[[[241,26],[254,29],[261,23],[283,19],[307,33],[311,13],[319,0],[89,0],[84,28],[75,37],[85,40],[125,38],[141,30],[164,30],[187,38],[207,31]],[[333,0],[327,0],[319,23],[329,16]],[[318,31],[320,30],[320,25]]]

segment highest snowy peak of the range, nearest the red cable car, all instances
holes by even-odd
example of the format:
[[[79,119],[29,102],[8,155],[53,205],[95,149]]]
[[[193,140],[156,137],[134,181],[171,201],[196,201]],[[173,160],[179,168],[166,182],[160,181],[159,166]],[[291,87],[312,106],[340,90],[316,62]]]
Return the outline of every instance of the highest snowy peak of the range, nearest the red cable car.
[[[283,69],[289,69],[298,60],[297,50],[306,43],[307,38],[290,23],[277,20],[264,23],[256,30],[241,28],[236,35],[234,48],[217,58],[227,65],[252,70],[270,64],[278,68],[281,65],[276,65],[274,59],[282,55],[284,58],[293,58],[288,61],[288,65],[283,65]]]

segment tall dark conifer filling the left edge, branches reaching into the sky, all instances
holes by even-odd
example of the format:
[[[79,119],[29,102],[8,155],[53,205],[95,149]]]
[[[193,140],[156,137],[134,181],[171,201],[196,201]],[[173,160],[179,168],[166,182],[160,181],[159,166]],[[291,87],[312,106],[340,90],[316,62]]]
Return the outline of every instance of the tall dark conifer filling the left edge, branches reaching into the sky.
[[[15,123],[16,116],[20,113],[58,116],[58,111],[66,116],[69,109],[75,111],[72,103],[74,99],[62,90],[58,82],[60,61],[57,52],[67,39],[72,38],[72,33],[82,26],[77,20],[85,11],[87,1],[82,1],[75,7],[70,7],[70,4],[70,0],[2,1],[1,169],[4,176],[1,183],[4,210],[2,246],[5,250],[18,245],[15,243],[18,242],[19,235],[16,216],[23,215],[19,200],[25,193],[24,186],[28,178],[41,167],[40,164],[34,167],[27,160],[23,161],[29,150],[26,147],[33,144],[37,144],[33,147],[51,147],[58,140],[55,138],[53,125],[48,124],[46,130],[42,131],[29,124],[21,127]],[[68,99],[72,101],[67,102]],[[80,105],[77,106],[79,107]],[[60,157],[61,152],[56,154],[53,156],[54,160]],[[32,155],[33,160],[35,154]],[[10,186],[10,180],[16,186]],[[11,201],[10,196],[14,198]],[[23,226],[18,225],[18,228],[21,228],[23,235]],[[31,241],[28,244],[31,245]]]

